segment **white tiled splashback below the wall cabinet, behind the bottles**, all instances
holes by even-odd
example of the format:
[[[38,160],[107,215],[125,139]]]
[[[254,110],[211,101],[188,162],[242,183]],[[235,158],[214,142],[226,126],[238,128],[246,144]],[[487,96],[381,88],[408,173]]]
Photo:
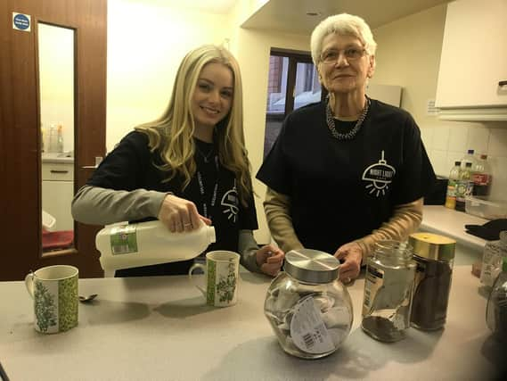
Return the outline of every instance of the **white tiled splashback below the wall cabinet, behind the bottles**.
[[[487,153],[493,173],[492,200],[507,200],[507,125],[495,128],[456,123],[455,127],[421,128],[421,137],[437,175],[449,176],[468,149]]]

